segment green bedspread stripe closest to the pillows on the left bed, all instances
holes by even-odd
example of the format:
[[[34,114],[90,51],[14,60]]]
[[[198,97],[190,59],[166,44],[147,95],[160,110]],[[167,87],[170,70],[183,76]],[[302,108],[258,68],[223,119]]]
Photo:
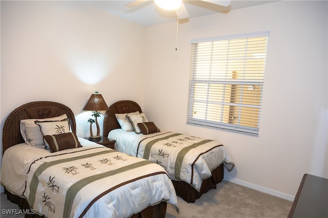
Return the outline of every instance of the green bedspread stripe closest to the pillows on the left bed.
[[[88,158],[88,157],[93,157],[97,155],[102,155],[102,154],[107,154],[107,153],[112,153],[116,152],[115,150],[106,150],[102,152],[96,152],[96,153],[91,153],[91,154],[86,154],[86,155],[81,155],[81,156],[76,156],[76,157],[70,157],[70,158],[65,158],[65,159],[59,159],[59,160],[54,160],[51,162],[45,162],[41,164],[37,169],[35,170],[33,177],[31,179],[31,184],[30,184],[30,195],[28,197],[28,202],[31,207],[34,206],[35,202],[35,195],[36,195],[36,189],[39,184],[38,177],[48,168],[56,164],[68,162],[68,161],[73,161],[73,160],[78,160],[78,159],[83,159],[83,158]]]

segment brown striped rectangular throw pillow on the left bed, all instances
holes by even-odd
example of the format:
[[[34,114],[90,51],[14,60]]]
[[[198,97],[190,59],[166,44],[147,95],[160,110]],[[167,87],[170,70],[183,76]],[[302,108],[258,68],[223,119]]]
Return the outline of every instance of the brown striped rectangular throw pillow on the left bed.
[[[61,133],[58,135],[45,135],[43,137],[49,144],[51,153],[82,147],[75,132]]]

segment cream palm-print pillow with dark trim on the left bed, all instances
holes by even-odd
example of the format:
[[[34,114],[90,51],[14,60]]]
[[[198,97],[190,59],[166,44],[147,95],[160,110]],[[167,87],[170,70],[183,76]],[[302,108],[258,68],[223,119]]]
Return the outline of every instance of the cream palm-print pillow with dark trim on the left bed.
[[[64,119],[61,121],[35,121],[35,124],[39,126],[42,135],[59,135],[62,133],[68,133],[70,132],[70,125],[68,122],[68,119]],[[42,139],[43,139],[42,136]],[[45,149],[50,149],[49,144],[46,140],[44,140]]]

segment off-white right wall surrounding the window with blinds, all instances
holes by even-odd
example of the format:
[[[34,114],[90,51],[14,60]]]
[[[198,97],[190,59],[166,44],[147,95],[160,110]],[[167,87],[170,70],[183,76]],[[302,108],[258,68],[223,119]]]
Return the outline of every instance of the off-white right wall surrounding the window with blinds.
[[[327,178],[327,2],[283,1],[147,29],[144,111],[159,128],[218,140],[225,179],[293,200],[303,174]],[[270,31],[258,137],[186,125],[190,40]]]

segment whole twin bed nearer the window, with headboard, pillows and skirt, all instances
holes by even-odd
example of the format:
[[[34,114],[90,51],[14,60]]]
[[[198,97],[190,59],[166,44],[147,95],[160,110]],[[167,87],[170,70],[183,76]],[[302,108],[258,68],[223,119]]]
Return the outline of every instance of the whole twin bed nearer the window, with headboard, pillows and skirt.
[[[234,167],[222,144],[160,130],[129,100],[118,101],[106,111],[103,135],[116,140],[115,150],[165,168],[176,194],[188,203],[216,188],[223,179],[223,166],[228,171]]]

